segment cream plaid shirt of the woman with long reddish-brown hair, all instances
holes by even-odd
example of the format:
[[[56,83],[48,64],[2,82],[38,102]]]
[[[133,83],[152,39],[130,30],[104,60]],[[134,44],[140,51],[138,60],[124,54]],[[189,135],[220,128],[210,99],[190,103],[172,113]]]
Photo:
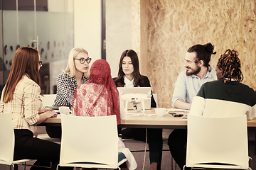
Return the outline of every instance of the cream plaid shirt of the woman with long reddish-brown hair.
[[[36,134],[38,111],[42,108],[41,88],[35,81],[24,75],[14,91],[14,98],[8,103],[3,102],[4,91],[0,101],[0,113],[11,113],[14,129],[28,129]]]

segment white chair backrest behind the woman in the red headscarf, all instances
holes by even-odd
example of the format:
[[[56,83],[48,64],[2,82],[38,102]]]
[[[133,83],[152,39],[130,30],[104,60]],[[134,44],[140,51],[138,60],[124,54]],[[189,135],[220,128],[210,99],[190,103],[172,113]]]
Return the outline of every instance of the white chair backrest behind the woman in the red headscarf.
[[[62,114],[61,127],[60,166],[117,168],[116,115],[80,117]]]

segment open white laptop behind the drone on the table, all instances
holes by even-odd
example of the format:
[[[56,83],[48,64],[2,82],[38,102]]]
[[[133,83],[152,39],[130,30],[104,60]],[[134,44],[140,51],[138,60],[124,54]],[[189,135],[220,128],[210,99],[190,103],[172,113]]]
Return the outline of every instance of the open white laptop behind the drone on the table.
[[[151,96],[151,87],[117,87],[120,97],[124,94],[146,94]],[[145,109],[151,109],[151,97],[148,100],[145,100]],[[138,108],[142,109],[142,103],[137,105]],[[125,101],[124,101],[124,108],[125,108]],[[128,103],[128,110],[134,110],[134,106],[132,102]]]

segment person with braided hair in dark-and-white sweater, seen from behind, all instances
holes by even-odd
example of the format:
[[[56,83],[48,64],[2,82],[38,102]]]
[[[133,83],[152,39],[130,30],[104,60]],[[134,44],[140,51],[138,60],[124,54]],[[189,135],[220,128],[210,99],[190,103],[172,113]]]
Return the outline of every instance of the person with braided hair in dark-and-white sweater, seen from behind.
[[[243,79],[240,67],[238,52],[226,50],[216,67],[218,81],[203,84],[193,98],[190,114],[207,117],[246,114],[249,120],[255,118],[256,94],[240,83]]]

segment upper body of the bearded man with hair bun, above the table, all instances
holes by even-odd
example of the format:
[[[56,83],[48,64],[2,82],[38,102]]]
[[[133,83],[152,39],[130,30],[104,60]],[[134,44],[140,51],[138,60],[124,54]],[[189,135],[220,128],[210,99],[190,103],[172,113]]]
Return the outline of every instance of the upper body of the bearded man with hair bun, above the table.
[[[214,46],[211,43],[206,45],[193,45],[188,48],[185,56],[186,70],[178,76],[174,85],[174,94],[171,100],[173,108],[190,109],[191,101],[196,96],[201,86],[217,79],[216,71],[210,67],[210,57],[215,55]]]

